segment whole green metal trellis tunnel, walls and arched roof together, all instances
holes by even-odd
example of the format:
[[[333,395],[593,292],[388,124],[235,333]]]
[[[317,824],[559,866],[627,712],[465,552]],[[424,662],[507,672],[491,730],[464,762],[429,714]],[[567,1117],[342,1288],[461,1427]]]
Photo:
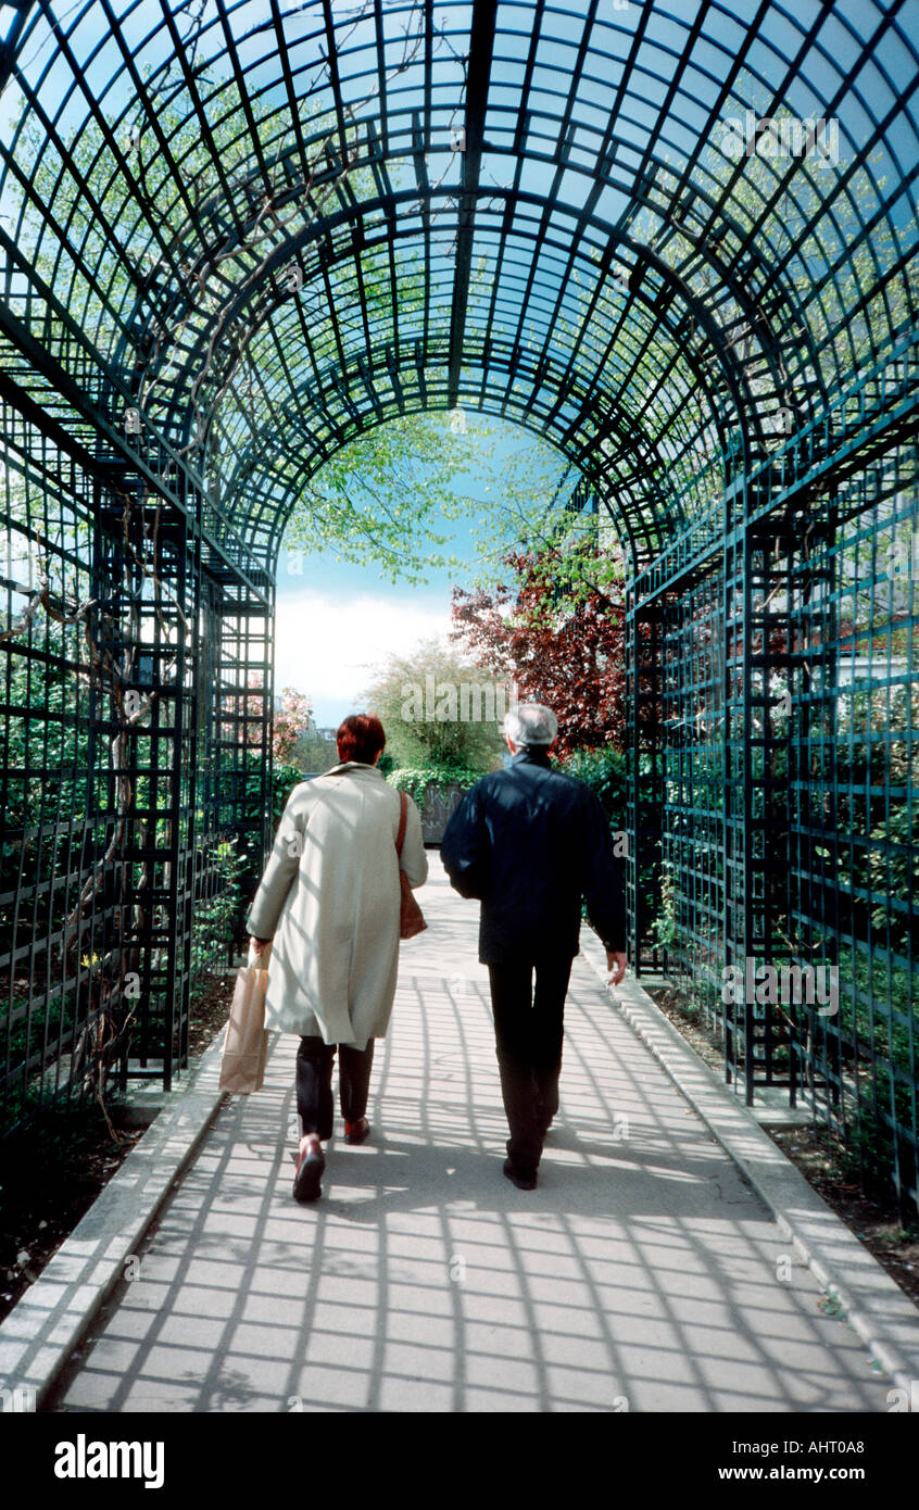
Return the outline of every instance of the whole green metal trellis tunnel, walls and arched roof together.
[[[3,1128],[124,1072],[128,966],[128,1072],[181,1065],[291,509],[463,405],[626,551],[635,963],[914,1205],[916,0],[3,14]]]

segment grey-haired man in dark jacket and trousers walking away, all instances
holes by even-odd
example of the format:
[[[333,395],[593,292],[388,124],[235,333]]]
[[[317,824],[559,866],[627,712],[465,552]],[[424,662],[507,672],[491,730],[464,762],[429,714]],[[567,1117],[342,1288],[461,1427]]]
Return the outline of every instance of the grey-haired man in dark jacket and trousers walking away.
[[[504,719],[504,734],[510,764],[466,793],[447,824],[441,859],[454,891],[481,901],[478,959],[489,968],[510,1126],[504,1173],[519,1190],[534,1190],[558,1110],[564,997],[579,948],[581,900],[616,985],[626,965],[625,882],[596,796],[549,764],[558,734],[552,710],[518,704]]]

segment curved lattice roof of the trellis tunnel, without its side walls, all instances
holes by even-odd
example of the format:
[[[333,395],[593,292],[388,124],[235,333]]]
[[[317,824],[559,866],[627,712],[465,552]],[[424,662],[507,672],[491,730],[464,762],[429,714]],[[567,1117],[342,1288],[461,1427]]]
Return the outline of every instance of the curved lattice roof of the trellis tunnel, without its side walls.
[[[338,447],[457,406],[646,562],[916,323],[914,0],[5,14],[8,304],[269,562]]]

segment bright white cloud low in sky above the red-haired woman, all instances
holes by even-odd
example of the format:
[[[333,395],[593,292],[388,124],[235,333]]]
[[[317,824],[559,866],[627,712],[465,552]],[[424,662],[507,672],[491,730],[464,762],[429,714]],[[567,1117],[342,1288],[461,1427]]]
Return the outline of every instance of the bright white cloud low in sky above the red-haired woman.
[[[275,689],[306,693],[317,722],[332,723],[353,710],[376,666],[420,640],[445,639],[450,628],[447,606],[371,593],[285,592],[275,618]]]

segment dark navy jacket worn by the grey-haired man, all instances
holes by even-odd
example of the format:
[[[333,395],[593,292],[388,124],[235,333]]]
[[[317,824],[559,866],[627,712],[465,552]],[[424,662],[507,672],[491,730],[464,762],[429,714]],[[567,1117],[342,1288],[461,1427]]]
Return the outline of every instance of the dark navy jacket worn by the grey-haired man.
[[[608,950],[626,947],[625,879],[610,823],[590,787],[518,750],[466,793],[441,841],[460,897],[481,900],[478,959],[573,957],[581,897]]]

